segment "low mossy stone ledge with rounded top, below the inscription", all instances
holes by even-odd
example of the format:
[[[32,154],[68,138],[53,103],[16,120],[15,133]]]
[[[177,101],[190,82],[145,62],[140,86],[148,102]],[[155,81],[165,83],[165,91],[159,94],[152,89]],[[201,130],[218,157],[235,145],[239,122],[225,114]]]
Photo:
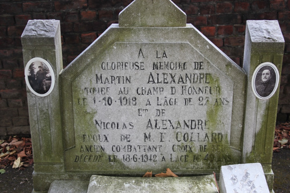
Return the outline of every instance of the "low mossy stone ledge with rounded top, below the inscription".
[[[217,193],[213,174],[198,177],[106,177],[93,175],[88,193],[106,192],[200,192]]]

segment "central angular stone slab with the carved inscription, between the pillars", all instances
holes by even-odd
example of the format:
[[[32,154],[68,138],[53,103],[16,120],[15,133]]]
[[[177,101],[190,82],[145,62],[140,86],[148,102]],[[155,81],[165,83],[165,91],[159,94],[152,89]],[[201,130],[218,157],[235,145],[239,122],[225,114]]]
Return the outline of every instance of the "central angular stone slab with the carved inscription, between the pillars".
[[[239,162],[240,152],[231,146],[241,145],[244,73],[219,52],[218,60],[210,58],[215,48],[208,40],[199,45],[205,39],[190,26],[175,29],[195,32],[194,40],[171,42],[168,34],[169,42],[150,43],[162,40],[113,25],[106,37],[116,37],[117,30],[116,43],[100,56],[84,53],[63,71],[63,104],[72,98],[74,117],[66,120],[73,144],[65,152],[66,170],[125,176],[169,167],[189,175]],[[145,43],[135,42],[142,38]],[[96,53],[97,44],[86,52]],[[240,101],[233,102],[234,93]]]

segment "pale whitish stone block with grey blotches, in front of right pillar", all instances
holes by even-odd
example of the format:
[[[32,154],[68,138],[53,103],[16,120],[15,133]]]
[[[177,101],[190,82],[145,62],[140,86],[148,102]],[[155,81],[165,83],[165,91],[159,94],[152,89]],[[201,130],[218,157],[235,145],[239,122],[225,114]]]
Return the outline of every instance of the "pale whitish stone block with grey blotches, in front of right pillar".
[[[260,163],[222,166],[219,188],[220,193],[269,192]]]

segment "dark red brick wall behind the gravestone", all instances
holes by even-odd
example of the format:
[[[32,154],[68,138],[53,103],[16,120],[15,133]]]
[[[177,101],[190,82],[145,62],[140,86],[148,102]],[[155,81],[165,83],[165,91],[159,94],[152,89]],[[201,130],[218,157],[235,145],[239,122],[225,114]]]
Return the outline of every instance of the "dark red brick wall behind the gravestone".
[[[0,136],[29,133],[20,36],[30,19],[61,21],[64,67],[132,0],[0,0]],[[285,39],[278,121],[290,120],[290,0],[173,0],[192,23],[242,67],[247,20],[278,20]]]

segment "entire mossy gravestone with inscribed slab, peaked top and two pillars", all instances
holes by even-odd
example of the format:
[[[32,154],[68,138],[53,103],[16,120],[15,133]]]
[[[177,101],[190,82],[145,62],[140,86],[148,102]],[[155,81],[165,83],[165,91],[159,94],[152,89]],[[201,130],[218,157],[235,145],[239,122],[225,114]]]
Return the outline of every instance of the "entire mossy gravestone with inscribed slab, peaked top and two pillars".
[[[119,24],[65,69],[59,26],[31,20],[21,38],[34,192],[47,192],[52,182],[87,184],[92,175],[142,177],[166,168],[219,178],[221,166],[256,162],[272,191],[284,49],[277,21],[247,22],[244,69],[186,24],[170,0],[133,1]],[[35,78],[38,63],[48,67],[45,79]],[[271,83],[260,80],[266,72]],[[262,83],[274,86],[261,94]]]

